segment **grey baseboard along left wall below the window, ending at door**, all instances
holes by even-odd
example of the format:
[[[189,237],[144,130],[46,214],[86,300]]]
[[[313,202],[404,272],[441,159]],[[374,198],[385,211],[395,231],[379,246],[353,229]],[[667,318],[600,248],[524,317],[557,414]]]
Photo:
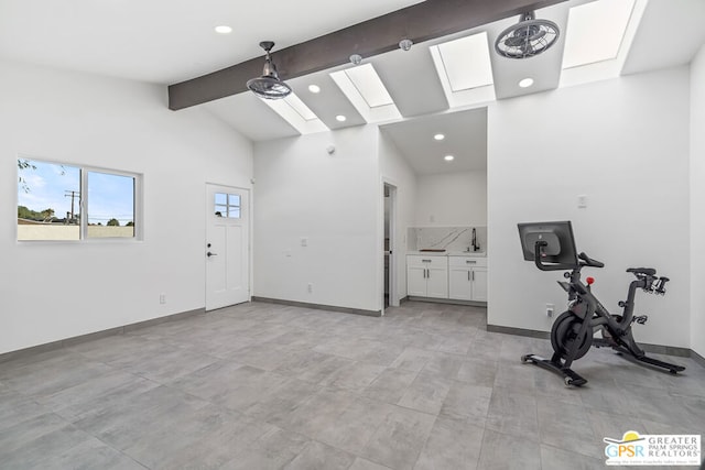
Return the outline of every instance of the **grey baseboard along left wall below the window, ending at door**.
[[[17,351],[3,352],[0,354],[0,363],[8,362],[14,359],[26,358],[29,356],[35,356],[42,352],[55,351],[62,348],[68,348],[72,346],[80,345],[83,342],[93,341],[95,339],[106,338],[109,336],[123,335],[126,332],[135,331],[142,328],[147,328],[153,325],[165,324],[167,321],[180,320],[196,315],[205,315],[205,308],[197,308],[195,310],[181,311],[178,314],[166,315],[164,317],[151,318],[144,321],[138,321],[134,324],[123,325],[121,327],[108,328],[100,331],[89,332],[86,335],[73,336],[58,341],[52,341],[44,345],[31,346],[29,348],[18,349]]]

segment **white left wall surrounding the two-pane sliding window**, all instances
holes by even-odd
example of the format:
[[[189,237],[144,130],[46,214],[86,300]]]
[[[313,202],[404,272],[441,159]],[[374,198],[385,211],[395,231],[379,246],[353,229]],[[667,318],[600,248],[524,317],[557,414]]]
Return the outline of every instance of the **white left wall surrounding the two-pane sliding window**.
[[[249,186],[250,142],[164,87],[0,70],[0,353],[203,308],[205,183]],[[18,242],[19,154],[143,174],[144,240]]]

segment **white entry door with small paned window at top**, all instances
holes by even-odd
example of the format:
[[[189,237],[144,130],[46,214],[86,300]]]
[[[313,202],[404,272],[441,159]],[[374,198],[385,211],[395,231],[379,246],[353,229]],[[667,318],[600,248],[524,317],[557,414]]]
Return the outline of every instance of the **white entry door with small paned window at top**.
[[[206,310],[250,299],[248,196],[206,185]]]

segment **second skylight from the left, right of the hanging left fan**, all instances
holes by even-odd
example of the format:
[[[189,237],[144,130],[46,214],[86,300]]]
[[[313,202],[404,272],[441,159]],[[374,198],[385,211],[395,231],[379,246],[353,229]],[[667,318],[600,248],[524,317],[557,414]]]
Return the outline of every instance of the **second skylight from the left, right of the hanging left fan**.
[[[330,74],[340,91],[367,122],[400,119],[401,113],[372,64],[358,65]]]

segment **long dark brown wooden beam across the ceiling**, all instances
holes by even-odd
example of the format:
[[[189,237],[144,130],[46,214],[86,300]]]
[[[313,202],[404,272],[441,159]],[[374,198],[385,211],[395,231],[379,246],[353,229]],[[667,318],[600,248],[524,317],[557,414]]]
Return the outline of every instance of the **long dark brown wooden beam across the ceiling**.
[[[422,43],[566,0],[426,0],[272,53],[283,80],[346,64],[351,54],[371,57],[410,39]],[[332,6],[330,8],[335,8]],[[273,33],[273,32],[272,32]],[[267,36],[267,34],[264,34]],[[262,37],[262,40],[276,40]],[[246,91],[262,74],[263,56],[169,87],[169,108],[188,108]]]

